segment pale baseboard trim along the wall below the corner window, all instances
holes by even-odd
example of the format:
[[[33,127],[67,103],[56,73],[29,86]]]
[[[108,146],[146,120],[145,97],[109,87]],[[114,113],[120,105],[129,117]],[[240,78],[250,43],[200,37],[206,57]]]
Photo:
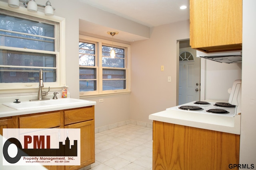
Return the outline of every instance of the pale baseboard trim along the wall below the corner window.
[[[113,124],[102,126],[102,127],[97,127],[97,128],[95,128],[95,133],[99,133],[99,132],[102,132],[102,131],[107,131],[107,130],[110,130],[110,129],[113,129],[113,128],[116,128],[116,127],[120,127],[120,126],[124,126],[124,125],[128,125],[128,124],[153,128],[152,123],[147,123],[147,122],[143,122],[143,121],[136,121],[136,120],[131,120],[130,119],[130,120],[121,121],[121,122],[118,122],[118,123],[113,123]]]

